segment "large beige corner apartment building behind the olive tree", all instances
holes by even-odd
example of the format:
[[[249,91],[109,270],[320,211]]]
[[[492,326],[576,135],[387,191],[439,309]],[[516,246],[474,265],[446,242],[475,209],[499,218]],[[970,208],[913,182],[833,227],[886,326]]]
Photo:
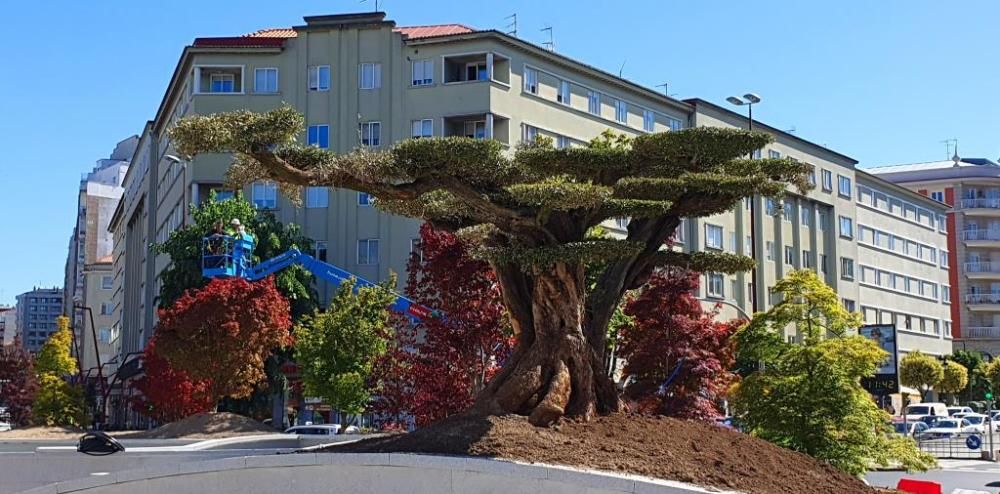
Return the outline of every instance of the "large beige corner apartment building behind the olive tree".
[[[513,150],[520,142],[544,135],[565,147],[582,145],[608,129],[639,135],[747,123],[742,115],[709,102],[669,98],[516,37],[458,24],[397,27],[382,13],[346,14],[306,17],[305,24],[289,29],[198,38],[181,54],[159,110],[140,136],[110,226],[121,362],[133,360],[142,350],[155,323],[157,277],[169,259],[152,258],[149,245],[163,242],[189,221],[190,204],[213,191],[223,197],[231,194],[223,184],[229,156],[200,155],[185,162],[175,155],[166,130],[186,115],[265,111],[281,105],[292,105],[305,115],[302,142],[337,152],[431,136],[494,139]],[[704,297],[749,311],[755,292],[758,309],[764,310],[767,289],[775,280],[789,269],[809,267],[820,271],[855,310],[875,308],[886,311],[885,317],[909,314],[936,321],[926,325],[926,331],[907,330],[904,350],[949,353],[950,336],[943,330],[946,305],[922,308],[907,295],[879,290],[878,285],[865,287],[866,292],[858,280],[860,265],[884,254],[859,247],[856,225],[865,214],[877,214],[858,206],[859,181],[901,197],[916,195],[873,177],[861,179],[849,157],[759,122],[754,128],[777,139],[762,153],[813,164],[822,186],[806,195],[790,192],[780,204],[753,199],[758,232],[753,239],[750,201],[730,214],[685,222],[679,239],[686,249],[749,253],[752,241],[762,258],[756,287],[748,286],[749,274],[709,274]],[[301,225],[317,241],[321,259],[372,280],[405,271],[419,223],[379,212],[364,194],[308,188],[298,207],[274,184],[257,183],[243,192],[280,220]],[[935,222],[944,213],[944,206],[930,199],[909,200],[932,211]],[[895,221],[886,215],[884,221],[864,221]],[[922,228],[906,221],[893,225],[907,231]],[[934,248],[943,248],[944,239],[935,238]],[[770,253],[763,260],[765,252]],[[893,261],[905,265],[910,259]],[[939,285],[947,283],[943,270],[925,274]],[[331,287],[319,288],[323,299],[331,294]],[[135,364],[124,365],[119,377],[137,371]]]

